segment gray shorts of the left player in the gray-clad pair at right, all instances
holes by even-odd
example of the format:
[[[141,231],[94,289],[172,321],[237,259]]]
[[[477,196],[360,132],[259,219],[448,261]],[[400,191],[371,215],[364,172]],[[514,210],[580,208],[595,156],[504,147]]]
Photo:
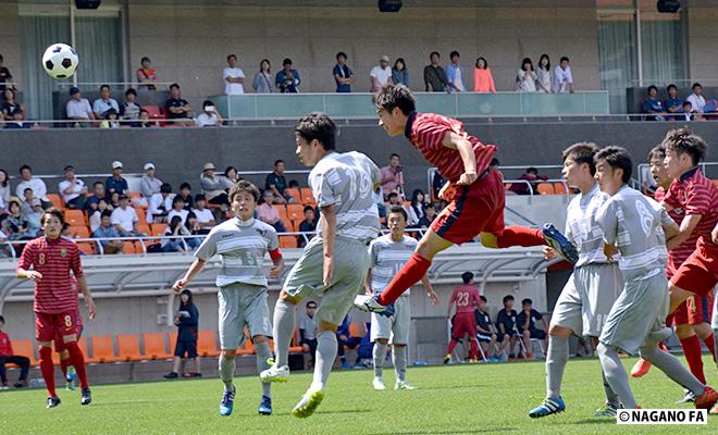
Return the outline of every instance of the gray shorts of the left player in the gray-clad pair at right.
[[[598,337],[622,289],[617,263],[577,268],[556,301],[550,324],[567,327],[578,336]]]

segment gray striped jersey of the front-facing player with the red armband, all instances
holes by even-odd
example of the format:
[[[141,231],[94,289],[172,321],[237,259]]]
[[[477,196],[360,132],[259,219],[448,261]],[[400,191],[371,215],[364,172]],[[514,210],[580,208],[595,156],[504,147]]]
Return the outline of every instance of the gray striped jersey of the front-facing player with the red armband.
[[[267,287],[262,270],[264,254],[280,247],[276,229],[269,224],[252,219],[243,223],[234,217],[210,231],[205,241],[197,248],[195,257],[209,260],[222,256],[222,270],[216,275],[216,286],[244,283]]]

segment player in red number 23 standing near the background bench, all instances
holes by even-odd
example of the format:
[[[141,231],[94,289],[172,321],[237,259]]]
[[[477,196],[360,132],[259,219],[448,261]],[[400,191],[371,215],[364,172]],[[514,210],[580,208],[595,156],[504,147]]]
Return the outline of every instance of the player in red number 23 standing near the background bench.
[[[456,316],[451,322],[451,341],[446,350],[444,363],[447,364],[451,360],[451,352],[456,344],[463,339],[469,334],[469,362],[479,362],[479,346],[476,343],[476,318],[473,311],[479,308],[479,289],[473,285],[473,273],[463,272],[461,275],[463,285],[454,289],[451,299],[449,299],[448,316],[451,318],[451,307],[456,302]]]

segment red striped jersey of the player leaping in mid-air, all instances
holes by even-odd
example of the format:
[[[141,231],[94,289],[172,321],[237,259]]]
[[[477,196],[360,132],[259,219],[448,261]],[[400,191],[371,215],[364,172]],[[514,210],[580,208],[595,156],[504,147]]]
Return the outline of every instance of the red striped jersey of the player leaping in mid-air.
[[[442,145],[447,132],[465,136],[473,146],[476,157],[476,174],[488,169],[496,153],[495,145],[483,145],[463,130],[463,123],[436,113],[412,112],[407,121],[405,136],[421,151],[421,154],[438,170],[444,178],[456,184],[465,172],[463,160],[458,150]]]

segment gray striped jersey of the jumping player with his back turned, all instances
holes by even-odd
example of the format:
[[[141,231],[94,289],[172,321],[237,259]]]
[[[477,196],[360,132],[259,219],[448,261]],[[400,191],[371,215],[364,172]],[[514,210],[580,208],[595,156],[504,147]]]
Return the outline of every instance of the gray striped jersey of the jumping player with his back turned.
[[[379,209],[373,186],[380,182],[376,164],[361,152],[332,152],[309,174],[317,206],[336,208],[336,235],[368,240],[379,234]],[[317,231],[321,234],[320,225]]]

